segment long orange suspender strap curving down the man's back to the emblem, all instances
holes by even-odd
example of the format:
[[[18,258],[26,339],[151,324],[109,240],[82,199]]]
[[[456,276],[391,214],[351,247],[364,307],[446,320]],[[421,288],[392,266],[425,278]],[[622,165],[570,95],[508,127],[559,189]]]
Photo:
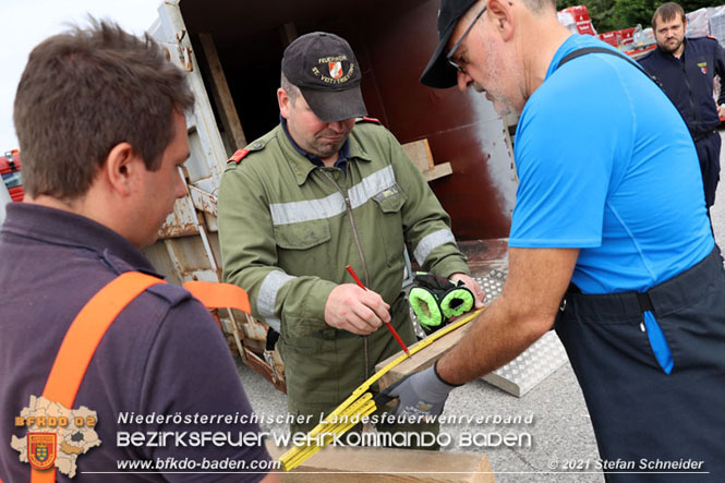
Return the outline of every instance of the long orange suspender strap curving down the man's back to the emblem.
[[[90,359],[106,330],[129,303],[157,283],[166,282],[140,271],[126,271],[100,289],[83,306],[65,333],[43,396],[72,409]],[[55,467],[45,471],[31,471],[33,483],[56,481]]]

